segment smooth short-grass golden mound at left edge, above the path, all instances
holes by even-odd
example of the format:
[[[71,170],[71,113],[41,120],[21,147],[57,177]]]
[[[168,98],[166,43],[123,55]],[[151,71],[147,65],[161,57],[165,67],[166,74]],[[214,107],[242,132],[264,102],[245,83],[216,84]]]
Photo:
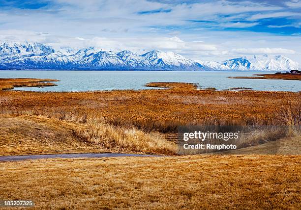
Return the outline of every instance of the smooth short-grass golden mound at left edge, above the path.
[[[0,156],[108,152],[76,135],[77,125],[37,116],[0,115]]]

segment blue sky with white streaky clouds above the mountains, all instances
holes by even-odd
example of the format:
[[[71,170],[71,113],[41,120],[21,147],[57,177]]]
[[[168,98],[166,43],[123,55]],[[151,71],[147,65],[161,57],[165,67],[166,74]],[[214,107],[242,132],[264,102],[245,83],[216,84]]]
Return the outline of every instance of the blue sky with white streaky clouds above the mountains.
[[[0,41],[301,62],[301,0],[0,0]]]

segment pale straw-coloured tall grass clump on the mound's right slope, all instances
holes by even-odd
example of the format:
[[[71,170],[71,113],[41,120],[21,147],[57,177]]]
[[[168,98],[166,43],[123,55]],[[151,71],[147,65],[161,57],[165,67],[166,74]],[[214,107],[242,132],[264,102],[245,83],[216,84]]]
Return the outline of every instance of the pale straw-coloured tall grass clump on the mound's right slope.
[[[117,151],[174,155],[177,150],[175,143],[166,141],[158,133],[115,127],[97,118],[78,127],[76,133],[90,143]]]

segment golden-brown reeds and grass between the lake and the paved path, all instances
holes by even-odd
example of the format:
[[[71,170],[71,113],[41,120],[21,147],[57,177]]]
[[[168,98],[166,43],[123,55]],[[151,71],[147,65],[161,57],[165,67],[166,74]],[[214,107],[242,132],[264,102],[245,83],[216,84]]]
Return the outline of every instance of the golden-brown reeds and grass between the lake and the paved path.
[[[1,154],[86,152],[92,147],[96,152],[173,155],[181,125],[300,127],[301,93],[198,90],[197,84],[177,82],[147,85],[165,89],[0,91]],[[60,140],[64,136],[66,142]]]

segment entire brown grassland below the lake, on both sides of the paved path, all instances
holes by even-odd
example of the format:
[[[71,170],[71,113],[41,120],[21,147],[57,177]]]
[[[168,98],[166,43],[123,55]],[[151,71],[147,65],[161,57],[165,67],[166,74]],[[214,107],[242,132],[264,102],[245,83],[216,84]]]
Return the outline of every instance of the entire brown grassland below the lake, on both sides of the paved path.
[[[165,157],[0,162],[2,200],[35,209],[300,209],[300,133],[235,151],[175,156],[179,125],[300,127],[301,93],[164,89],[0,91],[0,156],[125,152]],[[283,154],[283,155],[280,155]],[[30,208],[29,208],[30,209]]]

